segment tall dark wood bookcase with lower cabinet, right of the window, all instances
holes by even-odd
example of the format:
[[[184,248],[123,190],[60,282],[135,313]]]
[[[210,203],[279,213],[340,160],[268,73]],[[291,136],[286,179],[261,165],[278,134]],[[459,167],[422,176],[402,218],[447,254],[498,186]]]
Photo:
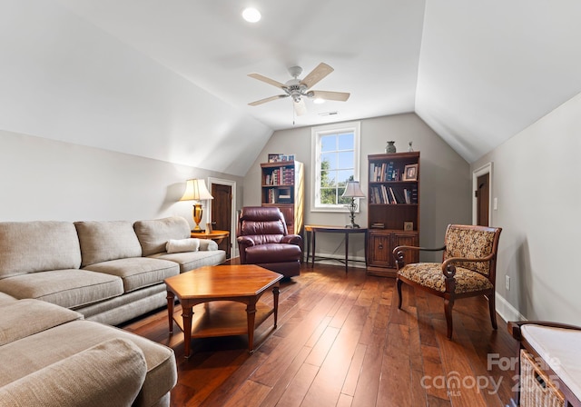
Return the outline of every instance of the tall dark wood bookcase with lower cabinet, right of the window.
[[[419,152],[368,156],[367,273],[395,277],[392,251],[419,245]],[[408,262],[418,262],[409,253]]]

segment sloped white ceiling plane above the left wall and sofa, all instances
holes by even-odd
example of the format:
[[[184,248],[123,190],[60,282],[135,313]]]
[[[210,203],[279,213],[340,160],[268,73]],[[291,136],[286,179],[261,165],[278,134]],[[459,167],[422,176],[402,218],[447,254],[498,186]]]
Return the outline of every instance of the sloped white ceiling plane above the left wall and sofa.
[[[272,134],[54,0],[2,1],[0,56],[0,130],[227,174]]]

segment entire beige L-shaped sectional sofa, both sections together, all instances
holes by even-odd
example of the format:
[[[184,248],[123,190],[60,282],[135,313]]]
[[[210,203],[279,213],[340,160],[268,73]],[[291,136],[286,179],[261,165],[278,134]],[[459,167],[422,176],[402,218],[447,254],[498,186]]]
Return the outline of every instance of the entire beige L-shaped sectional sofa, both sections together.
[[[172,349],[110,325],[164,306],[164,278],[225,260],[189,238],[176,216],[0,223],[0,407],[168,406]]]

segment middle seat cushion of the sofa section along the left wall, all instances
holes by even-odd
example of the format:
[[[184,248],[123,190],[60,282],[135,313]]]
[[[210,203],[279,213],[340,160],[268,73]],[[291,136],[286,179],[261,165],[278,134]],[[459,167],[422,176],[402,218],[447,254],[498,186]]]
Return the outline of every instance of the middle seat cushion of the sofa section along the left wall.
[[[148,257],[133,257],[94,263],[85,267],[84,270],[121,277],[125,293],[162,283],[163,279],[180,273],[178,264]]]

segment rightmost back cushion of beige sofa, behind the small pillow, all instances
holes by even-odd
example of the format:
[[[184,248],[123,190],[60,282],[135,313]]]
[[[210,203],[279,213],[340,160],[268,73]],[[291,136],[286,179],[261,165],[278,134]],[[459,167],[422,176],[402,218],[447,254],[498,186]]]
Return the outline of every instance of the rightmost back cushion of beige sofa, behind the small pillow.
[[[142,245],[144,256],[165,252],[165,243],[171,239],[186,239],[191,236],[190,223],[180,216],[137,221],[133,229]]]

